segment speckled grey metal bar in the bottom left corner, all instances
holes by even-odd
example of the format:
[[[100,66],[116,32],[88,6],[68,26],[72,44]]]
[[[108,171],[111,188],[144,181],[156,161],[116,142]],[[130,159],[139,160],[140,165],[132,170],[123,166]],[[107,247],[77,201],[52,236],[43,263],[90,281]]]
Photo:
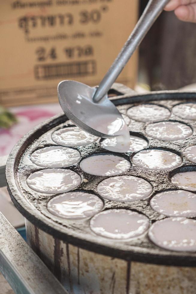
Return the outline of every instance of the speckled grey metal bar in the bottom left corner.
[[[0,271],[16,294],[67,294],[0,212]]]

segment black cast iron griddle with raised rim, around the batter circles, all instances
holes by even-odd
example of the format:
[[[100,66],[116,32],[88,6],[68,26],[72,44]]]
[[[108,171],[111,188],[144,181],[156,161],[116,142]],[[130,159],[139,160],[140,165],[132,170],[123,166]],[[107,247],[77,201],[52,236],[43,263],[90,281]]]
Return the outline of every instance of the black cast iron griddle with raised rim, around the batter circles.
[[[195,92],[160,91],[138,95],[120,84],[114,84],[109,93],[116,95],[116,97],[112,98],[112,102],[117,105],[120,112],[124,114],[126,114],[128,108],[140,103],[148,102],[163,105],[171,110],[176,104],[186,101],[196,101]],[[165,218],[164,215],[159,214],[150,207],[150,199],[158,191],[177,189],[170,181],[170,178],[174,173],[196,170],[196,164],[187,160],[182,154],[185,147],[196,143],[196,121],[183,120],[173,114],[171,114],[171,117],[168,120],[184,122],[191,126],[193,129],[193,135],[183,140],[165,142],[152,139],[145,134],[147,123],[131,120],[129,124],[131,134],[143,138],[145,137],[148,140],[149,146],[145,149],[157,148],[169,150],[180,155],[183,159],[182,165],[174,170],[153,171],[132,166],[128,171],[121,174],[138,176],[150,182],[153,186],[153,192],[148,199],[126,203],[114,202],[103,199],[97,194],[97,184],[107,177],[93,176],[85,173],[79,166],[81,160],[93,154],[115,154],[131,161],[132,156],[135,154],[109,152],[100,147],[99,140],[88,146],[74,147],[74,149],[79,150],[81,153],[81,160],[66,169],[78,173],[82,180],[88,180],[88,182],[82,182],[75,191],[87,191],[99,196],[104,202],[103,210],[109,208],[131,209],[145,214],[149,218],[150,224],[156,220]],[[91,231],[89,227],[89,218],[83,220],[67,220],[55,217],[47,211],[46,204],[55,196],[55,194],[39,193],[31,190],[27,186],[27,177],[35,171],[44,169],[33,164],[29,157],[36,149],[51,145],[57,146],[57,144],[51,139],[52,133],[59,128],[72,125],[73,124],[68,121],[65,115],[60,114],[34,128],[22,137],[22,139],[15,145],[7,160],[6,178],[8,191],[16,208],[18,208],[24,217],[26,217],[31,223],[38,226],[43,231],[53,235],[55,238],[59,238],[86,250],[131,261],[163,265],[196,266],[196,252],[175,252],[164,250],[153,244],[149,240],[147,233],[142,237],[132,239],[131,241],[107,239],[98,236]]]

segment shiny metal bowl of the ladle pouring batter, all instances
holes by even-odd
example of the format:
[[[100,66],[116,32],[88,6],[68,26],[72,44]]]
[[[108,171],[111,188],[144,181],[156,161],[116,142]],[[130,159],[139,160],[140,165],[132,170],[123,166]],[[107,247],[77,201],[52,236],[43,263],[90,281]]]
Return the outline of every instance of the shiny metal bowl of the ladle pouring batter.
[[[97,137],[114,137],[125,125],[123,117],[107,95],[94,102],[95,92],[96,87],[76,81],[65,80],[58,84],[59,103],[74,124]]]

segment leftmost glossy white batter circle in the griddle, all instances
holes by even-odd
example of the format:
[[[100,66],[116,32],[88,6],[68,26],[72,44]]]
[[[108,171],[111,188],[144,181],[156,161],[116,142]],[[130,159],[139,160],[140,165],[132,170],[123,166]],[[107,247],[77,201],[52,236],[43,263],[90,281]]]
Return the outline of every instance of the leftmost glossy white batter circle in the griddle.
[[[79,186],[81,177],[72,170],[47,169],[32,173],[27,178],[28,186],[41,193],[63,193]]]

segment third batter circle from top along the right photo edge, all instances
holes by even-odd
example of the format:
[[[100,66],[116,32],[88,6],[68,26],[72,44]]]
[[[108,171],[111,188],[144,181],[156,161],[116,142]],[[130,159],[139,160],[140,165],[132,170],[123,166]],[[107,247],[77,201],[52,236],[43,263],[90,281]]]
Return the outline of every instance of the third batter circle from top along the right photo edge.
[[[196,171],[177,173],[171,178],[171,182],[184,190],[196,191]]]

